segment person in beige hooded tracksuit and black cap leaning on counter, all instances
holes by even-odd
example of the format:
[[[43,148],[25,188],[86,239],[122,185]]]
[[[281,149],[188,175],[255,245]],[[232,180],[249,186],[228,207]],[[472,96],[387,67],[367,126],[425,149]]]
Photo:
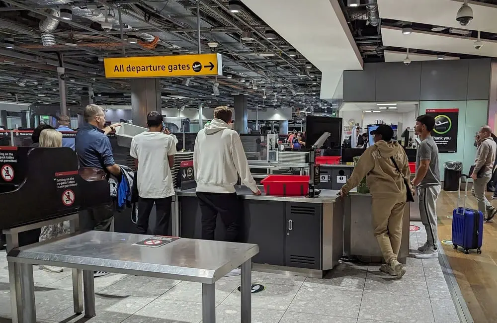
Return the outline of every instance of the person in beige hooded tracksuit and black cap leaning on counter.
[[[402,146],[391,141],[394,131],[390,126],[380,125],[370,134],[374,135],[375,144],[362,154],[352,175],[342,186],[340,196],[345,196],[367,174],[366,182],[372,195],[374,236],[386,262],[380,270],[401,278],[406,269],[397,261],[397,256],[401,246],[402,217],[407,198],[404,179],[411,185],[409,161]],[[411,187],[410,189],[412,190]]]

